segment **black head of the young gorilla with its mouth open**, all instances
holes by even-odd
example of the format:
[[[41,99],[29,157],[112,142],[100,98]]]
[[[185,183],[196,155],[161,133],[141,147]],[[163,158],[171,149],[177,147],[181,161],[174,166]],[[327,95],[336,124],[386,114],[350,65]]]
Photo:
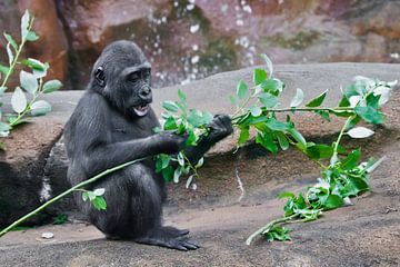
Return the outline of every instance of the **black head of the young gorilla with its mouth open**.
[[[151,65],[131,41],[109,44],[96,61],[91,90],[104,96],[122,113],[143,117],[152,101]]]

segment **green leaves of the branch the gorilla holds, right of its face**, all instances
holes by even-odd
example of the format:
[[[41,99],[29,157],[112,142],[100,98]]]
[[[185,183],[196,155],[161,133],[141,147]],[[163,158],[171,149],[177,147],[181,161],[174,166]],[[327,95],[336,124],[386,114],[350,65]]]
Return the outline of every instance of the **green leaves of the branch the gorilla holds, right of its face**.
[[[347,152],[340,146],[344,135],[352,138],[367,138],[374,132],[362,126],[364,121],[372,125],[383,122],[384,115],[381,106],[390,98],[391,88],[397,83],[384,82],[367,77],[354,77],[353,82],[341,89],[342,99],[334,107],[323,107],[328,90],[323,91],[306,105],[304,93],[297,89],[290,107],[281,108],[280,96],[284,90],[284,83],[272,77],[273,68],[270,59],[266,59],[268,70],[254,69],[253,85],[249,87],[240,80],[237,95],[231,96],[231,102],[237,111],[231,116],[232,125],[240,130],[237,141],[238,148],[243,146],[250,138],[250,129],[256,130],[256,142],[266,150],[277,154],[279,149],[287,150],[294,146],[311,160],[321,167],[321,178],[318,184],[309,187],[307,191],[298,196],[293,192],[282,192],[279,198],[287,198],[284,215],[253,233],[248,239],[264,236],[268,240],[289,240],[290,229],[282,227],[283,224],[292,221],[310,221],[320,217],[322,211],[342,207],[351,204],[350,198],[369,190],[368,175],[381,162],[372,158],[360,162],[361,150],[356,149]],[[208,134],[207,125],[212,115],[196,109],[187,109],[186,96],[178,91],[179,101],[166,101],[162,115],[164,119],[163,130],[174,130],[178,135],[188,134],[188,146],[196,146],[196,141]],[[330,121],[331,116],[343,117],[346,122],[339,136],[331,145],[309,142],[298,131],[291,116],[297,112],[313,112]],[[286,117],[277,116],[286,113]],[[179,167],[173,169],[169,162],[178,161]],[[160,155],[157,157],[157,171],[162,172],[167,181],[179,181],[181,175],[192,174],[187,179],[187,187],[198,177],[197,168],[201,167],[203,160],[192,166],[181,151],[177,156]]]

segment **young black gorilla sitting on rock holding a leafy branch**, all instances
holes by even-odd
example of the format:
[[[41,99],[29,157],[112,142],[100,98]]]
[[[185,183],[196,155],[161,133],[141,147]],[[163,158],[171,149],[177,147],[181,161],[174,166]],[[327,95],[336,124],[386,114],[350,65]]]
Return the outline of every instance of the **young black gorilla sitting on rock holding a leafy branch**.
[[[150,63],[133,42],[117,41],[102,51],[90,83],[66,125],[68,179],[77,185],[106,169],[148,157],[88,188],[106,188],[107,210],[94,209],[76,192],[78,207],[108,238],[197,249],[196,243],[181,238],[188,230],[162,226],[166,186],[154,171],[152,156],[184,149],[189,160],[197,162],[212,145],[232,132],[232,126],[228,116],[216,116],[209,135],[190,148],[184,148],[183,136],[153,134],[159,122],[150,107]]]

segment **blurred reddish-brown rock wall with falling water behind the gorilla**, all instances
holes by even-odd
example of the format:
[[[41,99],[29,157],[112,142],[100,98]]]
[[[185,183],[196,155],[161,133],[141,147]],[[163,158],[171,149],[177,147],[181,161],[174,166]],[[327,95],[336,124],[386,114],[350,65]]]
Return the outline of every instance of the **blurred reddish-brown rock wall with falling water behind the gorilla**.
[[[156,88],[262,63],[261,52],[274,63],[400,62],[399,0],[0,0],[0,31],[19,39],[26,9],[40,40],[24,55],[71,90],[120,39],[142,48]]]

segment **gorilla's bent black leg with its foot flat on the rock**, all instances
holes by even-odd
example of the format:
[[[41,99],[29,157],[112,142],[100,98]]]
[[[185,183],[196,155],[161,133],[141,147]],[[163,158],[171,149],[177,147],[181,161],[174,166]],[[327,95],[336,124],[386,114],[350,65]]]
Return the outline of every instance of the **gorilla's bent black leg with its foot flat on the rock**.
[[[106,188],[108,207],[106,211],[91,208],[91,221],[108,238],[132,239],[180,250],[197,249],[196,243],[177,239],[188,230],[161,226],[162,188],[153,176],[153,170],[137,164],[98,184],[97,188]]]

